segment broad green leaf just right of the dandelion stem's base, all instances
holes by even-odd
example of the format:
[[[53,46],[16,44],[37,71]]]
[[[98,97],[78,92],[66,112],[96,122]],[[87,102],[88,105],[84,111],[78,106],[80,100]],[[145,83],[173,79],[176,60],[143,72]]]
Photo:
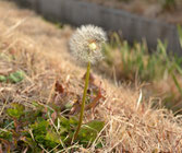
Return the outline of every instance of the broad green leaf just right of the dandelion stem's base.
[[[77,139],[81,143],[94,142],[104,126],[104,121],[93,120],[81,128]]]

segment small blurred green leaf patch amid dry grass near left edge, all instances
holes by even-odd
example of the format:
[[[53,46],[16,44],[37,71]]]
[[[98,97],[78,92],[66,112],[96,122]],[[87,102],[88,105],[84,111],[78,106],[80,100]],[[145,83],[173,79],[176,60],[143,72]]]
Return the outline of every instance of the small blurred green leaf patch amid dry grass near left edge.
[[[25,72],[24,71],[16,71],[16,72],[13,72],[9,75],[9,81],[11,83],[19,83],[22,80],[24,80],[24,78],[25,78]]]

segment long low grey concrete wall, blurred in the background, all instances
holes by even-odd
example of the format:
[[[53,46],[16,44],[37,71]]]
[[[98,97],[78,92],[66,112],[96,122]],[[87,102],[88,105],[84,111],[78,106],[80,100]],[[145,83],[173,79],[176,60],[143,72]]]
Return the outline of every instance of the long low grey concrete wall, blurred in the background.
[[[22,1],[22,0],[19,0]],[[24,0],[44,16],[73,25],[95,24],[108,31],[122,31],[129,42],[146,38],[149,48],[157,39],[168,42],[168,50],[182,55],[177,27],[156,20],[141,17],[122,10],[80,0]]]

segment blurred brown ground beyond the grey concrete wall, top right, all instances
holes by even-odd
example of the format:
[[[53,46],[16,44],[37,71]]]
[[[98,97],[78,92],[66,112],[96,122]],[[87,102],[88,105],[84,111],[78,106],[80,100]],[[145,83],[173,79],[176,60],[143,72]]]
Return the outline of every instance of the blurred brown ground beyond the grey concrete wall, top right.
[[[157,0],[83,0],[96,2],[110,8],[122,9],[137,15],[157,19],[171,24],[182,25],[182,1],[175,0],[174,5],[165,7]]]

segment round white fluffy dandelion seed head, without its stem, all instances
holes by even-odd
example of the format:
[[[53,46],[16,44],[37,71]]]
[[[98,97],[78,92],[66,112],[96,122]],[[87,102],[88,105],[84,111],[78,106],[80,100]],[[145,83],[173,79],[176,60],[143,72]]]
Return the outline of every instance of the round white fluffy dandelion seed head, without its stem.
[[[102,44],[107,35],[101,27],[83,25],[76,30],[70,39],[70,50],[78,60],[92,63],[101,60]]]

